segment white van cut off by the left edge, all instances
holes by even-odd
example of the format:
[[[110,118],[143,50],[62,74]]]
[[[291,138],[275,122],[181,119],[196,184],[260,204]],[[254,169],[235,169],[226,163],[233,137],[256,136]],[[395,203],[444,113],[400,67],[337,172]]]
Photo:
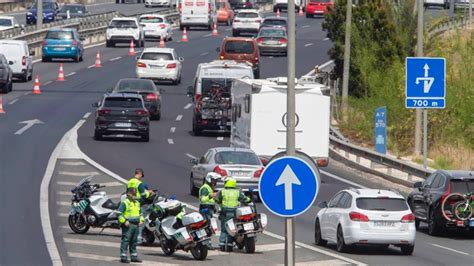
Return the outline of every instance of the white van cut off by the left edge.
[[[4,54],[8,61],[13,61],[11,69],[13,77],[26,82],[33,78],[33,56],[26,41],[0,40],[0,54]]]

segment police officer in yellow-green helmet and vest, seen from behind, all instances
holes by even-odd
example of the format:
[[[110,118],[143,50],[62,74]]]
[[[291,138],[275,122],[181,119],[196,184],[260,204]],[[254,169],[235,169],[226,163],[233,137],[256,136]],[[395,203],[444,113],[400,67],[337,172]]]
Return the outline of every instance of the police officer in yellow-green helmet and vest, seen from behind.
[[[224,189],[216,195],[216,202],[221,207],[219,219],[221,220],[221,235],[219,237],[219,247],[221,251],[232,251],[233,240],[225,230],[225,223],[235,216],[235,209],[239,203],[250,203],[249,197],[245,196],[237,189],[237,181],[228,177],[224,183]]]

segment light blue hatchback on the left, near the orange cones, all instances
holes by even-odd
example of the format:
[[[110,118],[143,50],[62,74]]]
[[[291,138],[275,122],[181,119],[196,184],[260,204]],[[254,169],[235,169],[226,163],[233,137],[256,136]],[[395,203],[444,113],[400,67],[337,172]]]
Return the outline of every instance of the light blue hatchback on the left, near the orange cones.
[[[53,58],[72,58],[80,62],[84,55],[84,46],[76,29],[54,28],[46,32],[43,41],[43,62],[49,62]]]

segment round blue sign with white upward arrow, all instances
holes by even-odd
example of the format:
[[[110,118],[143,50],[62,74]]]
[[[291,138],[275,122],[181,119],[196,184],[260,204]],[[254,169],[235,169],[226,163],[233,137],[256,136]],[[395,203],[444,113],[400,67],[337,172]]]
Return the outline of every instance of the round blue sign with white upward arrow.
[[[285,156],[265,167],[258,183],[260,198],[271,212],[293,217],[313,205],[319,189],[319,173],[304,160]]]

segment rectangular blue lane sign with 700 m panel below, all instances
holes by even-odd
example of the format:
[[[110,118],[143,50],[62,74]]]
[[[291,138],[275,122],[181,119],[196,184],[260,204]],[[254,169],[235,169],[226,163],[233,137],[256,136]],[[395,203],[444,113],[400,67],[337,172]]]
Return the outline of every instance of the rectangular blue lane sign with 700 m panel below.
[[[445,108],[446,60],[407,57],[406,108]]]

